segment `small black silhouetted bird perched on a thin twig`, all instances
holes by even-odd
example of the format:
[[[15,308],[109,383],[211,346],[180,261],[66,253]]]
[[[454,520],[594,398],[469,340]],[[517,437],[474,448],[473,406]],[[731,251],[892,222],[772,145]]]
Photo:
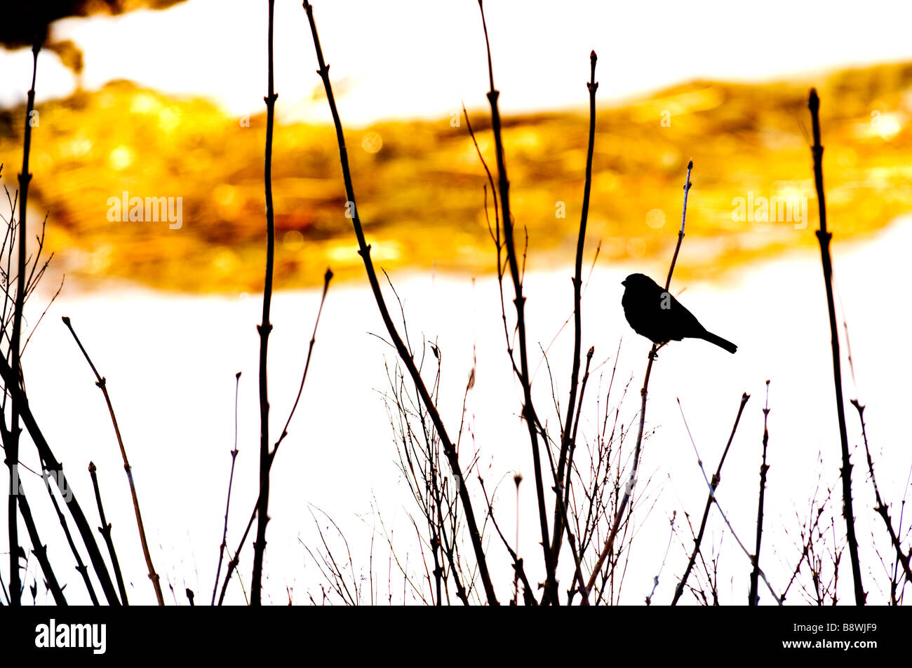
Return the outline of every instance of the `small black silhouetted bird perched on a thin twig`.
[[[621,285],[626,286],[621,304],[634,332],[652,343],[664,345],[681,339],[703,339],[730,353],[738,346],[706,330],[681,303],[643,273],[631,273]]]

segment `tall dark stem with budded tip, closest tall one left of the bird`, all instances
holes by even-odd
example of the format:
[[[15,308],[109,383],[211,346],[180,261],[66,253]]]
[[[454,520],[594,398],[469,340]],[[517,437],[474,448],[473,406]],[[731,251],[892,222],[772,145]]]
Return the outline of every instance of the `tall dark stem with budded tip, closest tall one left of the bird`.
[[[576,238],[576,265],[573,279],[573,303],[574,303],[574,344],[573,344],[573,365],[570,372],[570,398],[567,401],[567,415],[564,423],[564,433],[561,436],[561,449],[557,456],[557,498],[554,502],[554,538],[552,539],[551,551],[554,553],[554,560],[558,560],[561,550],[561,540],[564,537],[564,513],[561,511],[561,488],[570,485],[569,470],[565,472],[567,455],[571,448],[573,440],[573,418],[576,406],[576,386],[579,383],[579,366],[580,355],[583,347],[583,316],[580,310],[582,301],[583,288],[583,251],[586,246],[586,220],[589,216],[589,194],[592,191],[592,158],[596,149],[596,90],[598,82],[596,81],[596,52],[589,55],[589,63],[592,67],[589,82],[586,87],[589,90],[589,145],[586,149],[586,184],[583,187],[583,211],[579,219],[579,235]],[[565,475],[566,473],[566,475]],[[584,599],[585,600],[585,599]]]

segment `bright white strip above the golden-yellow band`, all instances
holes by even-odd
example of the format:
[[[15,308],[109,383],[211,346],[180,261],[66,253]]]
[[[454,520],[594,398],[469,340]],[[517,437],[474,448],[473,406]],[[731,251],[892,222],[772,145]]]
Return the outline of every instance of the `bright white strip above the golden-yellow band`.
[[[232,113],[263,110],[266,3],[188,0],[161,12],[68,19],[54,26],[85,55],[84,85],[127,78],[202,94]],[[485,104],[483,36],[474,0],[316,0],[316,22],[348,124],[449,116]],[[588,54],[599,96],[627,98],[697,77],[757,80],[912,60],[912,3],[498,2],[486,5],[503,110],[585,106]],[[311,99],[316,57],[298,0],[277,0],[275,87],[281,118],[327,118]],[[24,100],[30,53],[0,50],[0,105]],[[38,100],[74,77],[39,59]]]

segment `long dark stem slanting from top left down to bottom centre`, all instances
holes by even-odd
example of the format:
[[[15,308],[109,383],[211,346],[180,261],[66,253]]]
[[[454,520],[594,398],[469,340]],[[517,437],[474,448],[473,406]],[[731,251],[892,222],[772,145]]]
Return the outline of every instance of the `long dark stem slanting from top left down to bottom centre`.
[[[307,20],[310,24],[311,35],[313,36],[314,40],[316,60],[319,64],[319,69],[316,72],[320,78],[323,79],[323,87],[326,89],[326,101],[329,104],[329,110],[332,113],[333,117],[333,124],[336,128],[336,138],[339,148],[339,161],[342,165],[342,178],[345,181],[347,201],[351,207],[350,211],[352,227],[355,230],[355,236],[358,238],[358,254],[361,256],[361,260],[364,262],[364,268],[368,274],[370,289],[374,293],[374,301],[377,302],[380,317],[383,319],[383,324],[386,325],[389,338],[396,348],[396,352],[399,354],[399,359],[402,360],[402,364],[405,365],[406,369],[409,371],[412,382],[415,384],[415,387],[421,397],[421,402],[428,409],[430,420],[434,424],[434,428],[437,429],[437,433],[440,436],[440,444],[443,447],[443,452],[447,457],[447,461],[450,463],[453,478],[456,479],[456,484],[462,503],[462,510],[465,513],[466,528],[469,530],[469,537],[472,540],[472,549],[475,552],[475,560],[478,565],[478,574],[482,580],[482,586],[484,588],[485,595],[487,596],[489,604],[497,605],[497,596],[494,592],[491,575],[488,570],[487,559],[484,554],[484,546],[482,545],[482,534],[478,529],[478,523],[475,519],[475,513],[472,509],[472,498],[469,496],[469,490],[466,488],[465,479],[462,477],[462,469],[459,463],[459,454],[456,451],[456,447],[453,445],[451,438],[447,434],[446,428],[443,425],[443,420],[440,418],[440,413],[437,410],[437,406],[434,405],[434,401],[428,392],[428,388],[424,384],[424,381],[421,379],[420,372],[418,370],[418,367],[415,365],[414,359],[412,359],[412,356],[409,353],[409,349],[406,347],[405,343],[402,341],[402,337],[396,330],[396,325],[393,324],[392,318],[389,315],[389,309],[387,308],[386,300],[384,299],[383,293],[380,290],[380,283],[377,278],[377,272],[374,270],[374,264],[370,259],[370,246],[365,239],[364,229],[361,225],[361,219],[358,214],[358,206],[355,202],[355,188],[352,184],[351,170],[348,166],[348,153],[345,146],[345,135],[342,132],[342,121],[339,118],[338,109],[336,107],[336,98],[333,96],[332,85],[329,81],[329,66],[326,65],[326,61],[323,58],[323,49],[320,47],[320,39],[316,32],[314,8],[306,0],[304,2],[304,8],[307,14]]]

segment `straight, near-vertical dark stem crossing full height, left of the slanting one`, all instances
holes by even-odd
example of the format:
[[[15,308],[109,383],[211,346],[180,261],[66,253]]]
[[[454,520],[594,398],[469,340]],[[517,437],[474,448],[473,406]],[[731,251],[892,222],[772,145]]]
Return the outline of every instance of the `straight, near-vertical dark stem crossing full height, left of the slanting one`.
[[[275,220],[273,217],[273,125],[275,123],[275,83],[273,77],[273,24],[275,0],[269,5],[269,36],[267,37],[269,79],[266,97],[266,155],[264,184],[266,196],[266,279],[263,287],[263,322],[257,325],[260,333],[260,498],[256,515],[256,540],[254,541],[254,574],[250,584],[250,604],[260,605],[263,582],[263,555],[266,551],[266,523],[269,521],[269,385],[266,379],[266,350],[273,325],[269,322],[269,309],[273,301],[273,267],[275,264]]]

